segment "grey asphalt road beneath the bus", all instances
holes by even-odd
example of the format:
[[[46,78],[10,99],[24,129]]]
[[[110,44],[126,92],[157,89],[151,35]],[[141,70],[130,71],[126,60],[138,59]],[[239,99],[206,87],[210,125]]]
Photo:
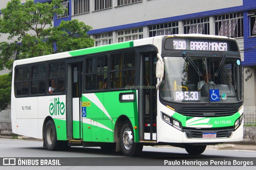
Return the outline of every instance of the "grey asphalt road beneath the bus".
[[[221,160],[254,160],[254,166],[223,166],[225,170],[228,169],[255,169],[256,166],[256,151],[243,151],[243,150],[205,150],[203,154],[198,156],[190,155],[186,152],[185,149],[176,148],[176,147],[144,147],[142,150],[142,154],[137,158],[127,158],[122,155],[120,152],[115,152],[114,150],[102,150],[100,147],[91,147],[91,148],[83,148],[83,147],[71,147],[68,151],[48,151],[46,148],[42,147],[42,141],[26,141],[26,140],[16,140],[16,139],[0,139],[0,157],[4,158],[72,158],[74,161],[74,165],[80,165],[81,162],[87,160],[91,160],[92,162],[88,162],[90,165],[90,170],[93,169],[102,169],[104,170],[113,170],[113,165],[118,164],[114,169],[170,169],[170,166],[154,166],[155,163],[162,162],[164,164],[164,160],[174,161],[174,160],[198,160],[204,161],[209,159],[221,159]],[[108,166],[99,166],[101,163],[108,161]],[[122,161],[125,166],[122,166]],[[149,166],[138,166],[140,162],[148,162]],[[50,169],[67,169],[67,167],[72,169],[80,169],[79,166],[68,166],[68,163],[65,160],[62,160],[62,165],[58,168],[54,168],[50,166]],[[65,164],[66,163],[66,164]],[[105,165],[103,163],[103,165]],[[84,165],[84,164],[81,164]],[[112,166],[110,166],[112,165]],[[129,165],[129,166],[127,166]],[[137,166],[133,166],[137,165]],[[45,167],[45,166],[44,166]],[[176,166],[177,167],[177,166]],[[189,168],[190,167],[190,168]],[[191,169],[192,166],[181,166],[180,169]],[[193,166],[192,169],[204,169],[206,166]],[[32,168],[32,166],[27,167]],[[26,166],[22,167],[8,167],[5,166],[4,169],[27,169]],[[36,167],[37,169],[42,168],[42,166]],[[207,169],[222,169],[220,166],[207,166]],[[1,167],[0,167],[1,169]],[[32,168],[33,169],[33,168]],[[86,168],[87,169],[87,168]]]

